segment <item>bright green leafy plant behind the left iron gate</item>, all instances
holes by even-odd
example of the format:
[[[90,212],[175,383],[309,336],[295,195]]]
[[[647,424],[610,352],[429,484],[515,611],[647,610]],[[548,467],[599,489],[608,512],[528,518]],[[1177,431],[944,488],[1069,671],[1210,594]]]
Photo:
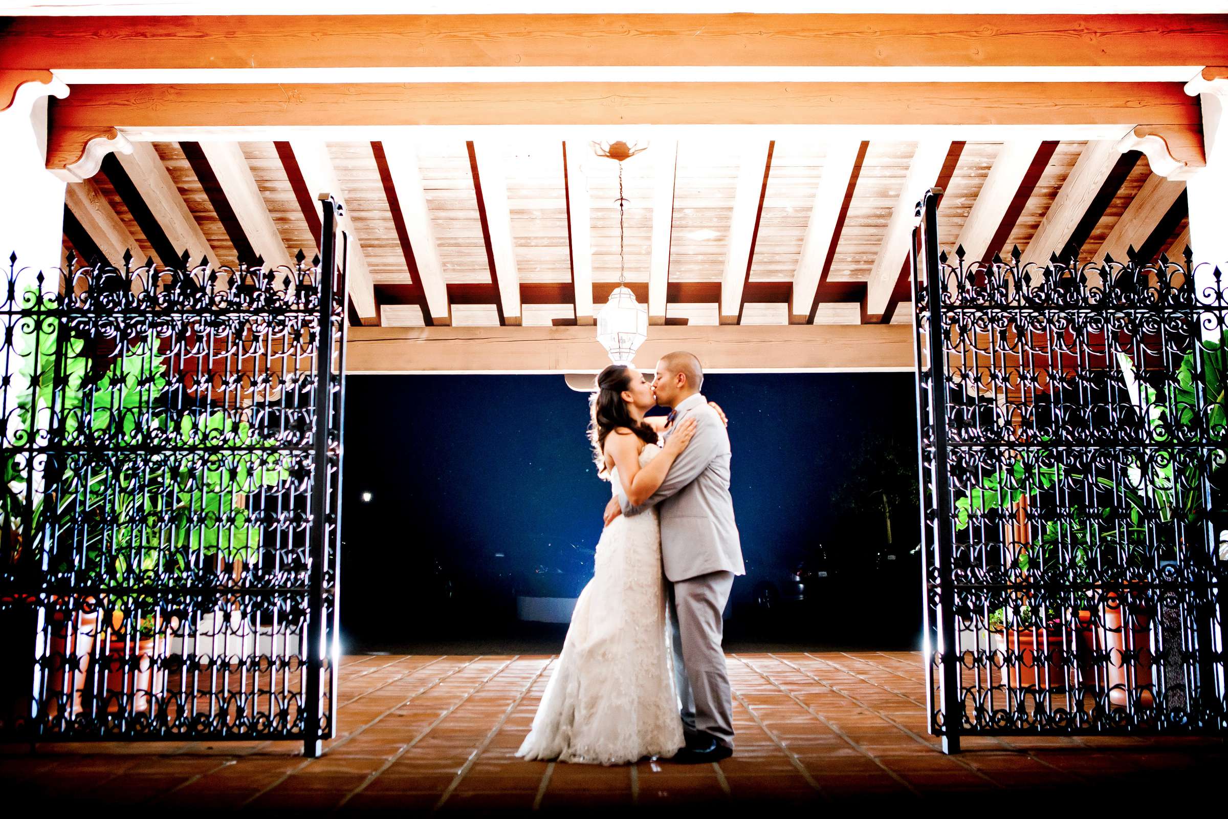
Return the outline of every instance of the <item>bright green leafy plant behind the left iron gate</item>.
[[[149,632],[155,600],[104,589],[182,575],[194,556],[251,560],[259,527],[243,499],[289,478],[279,442],[222,409],[172,414],[152,333],[120,344],[108,363],[54,314],[20,329],[7,390],[7,441],[17,444],[0,453],[5,554],[27,573],[44,571],[37,556],[47,554],[45,570],[74,572],[77,586],[84,570],[108,610],[146,613],[139,626]],[[39,440],[86,454],[31,460],[20,443]],[[129,457],[134,446],[146,452]],[[80,543],[54,543],[70,521]]]

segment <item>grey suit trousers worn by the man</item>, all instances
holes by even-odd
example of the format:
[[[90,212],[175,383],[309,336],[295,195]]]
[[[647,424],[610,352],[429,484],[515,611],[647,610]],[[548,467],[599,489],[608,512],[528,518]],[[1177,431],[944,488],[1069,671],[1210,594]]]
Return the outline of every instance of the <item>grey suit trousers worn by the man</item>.
[[[721,613],[733,572],[712,572],[670,584],[674,678],[688,733],[702,732],[733,748],[733,697],[725,667]]]

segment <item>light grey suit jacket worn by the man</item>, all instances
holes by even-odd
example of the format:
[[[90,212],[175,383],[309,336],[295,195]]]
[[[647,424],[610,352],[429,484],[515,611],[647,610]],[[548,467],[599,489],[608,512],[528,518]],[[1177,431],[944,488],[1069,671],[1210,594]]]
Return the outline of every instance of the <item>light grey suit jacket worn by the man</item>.
[[[691,395],[674,408],[674,426],[694,415],[695,436],[669,465],[664,483],[640,506],[619,487],[623,514],[639,514],[652,506],[661,512],[661,557],[672,582],[716,571],[747,573],[742,540],[729,496],[729,436],[725,424],[702,395]],[[669,432],[666,432],[669,437]]]

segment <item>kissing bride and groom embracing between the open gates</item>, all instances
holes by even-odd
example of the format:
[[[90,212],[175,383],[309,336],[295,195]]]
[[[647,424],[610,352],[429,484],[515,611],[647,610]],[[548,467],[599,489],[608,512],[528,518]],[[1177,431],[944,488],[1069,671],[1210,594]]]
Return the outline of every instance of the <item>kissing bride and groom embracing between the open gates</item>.
[[[726,419],[702,386],[690,352],[664,356],[651,378],[625,365],[597,376],[589,440],[613,497],[593,578],[517,756],[619,765],[733,754],[721,613],[745,570]],[[669,415],[646,419],[655,405]]]

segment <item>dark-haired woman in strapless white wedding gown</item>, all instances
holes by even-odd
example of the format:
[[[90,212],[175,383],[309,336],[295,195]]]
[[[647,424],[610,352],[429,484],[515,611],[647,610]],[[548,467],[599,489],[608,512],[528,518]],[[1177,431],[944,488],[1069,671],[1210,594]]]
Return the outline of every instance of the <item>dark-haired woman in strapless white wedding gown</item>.
[[[695,420],[685,419],[658,447],[664,419],[643,417],[655,405],[651,384],[635,367],[612,365],[597,377],[589,438],[598,475],[615,495],[624,486],[632,503],[661,486],[695,433]],[[616,517],[602,532],[594,564],[516,755],[603,765],[673,756],[684,739],[657,510]]]

